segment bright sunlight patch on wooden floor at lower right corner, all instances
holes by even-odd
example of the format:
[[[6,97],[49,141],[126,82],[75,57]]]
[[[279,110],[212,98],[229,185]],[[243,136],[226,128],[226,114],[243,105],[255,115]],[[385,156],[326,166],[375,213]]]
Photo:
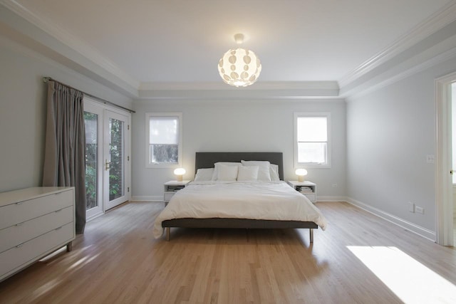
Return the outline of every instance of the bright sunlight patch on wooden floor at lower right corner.
[[[347,246],[405,303],[456,303],[456,286],[395,247]]]

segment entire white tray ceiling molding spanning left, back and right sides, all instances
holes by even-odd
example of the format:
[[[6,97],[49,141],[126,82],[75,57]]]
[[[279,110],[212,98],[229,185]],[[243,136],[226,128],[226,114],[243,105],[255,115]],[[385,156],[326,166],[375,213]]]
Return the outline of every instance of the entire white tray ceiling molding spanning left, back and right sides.
[[[4,9],[5,8],[5,9]],[[19,17],[19,18],[18,18]],[[345,98],[365,90],[371,80],[385,83],[386,73],[375,68],[385,65],[392,58],[408,50],[456,20],[456,0],[450,1],[440,11],[419,23],[388,48],[377,53],[358,68],[338,81],[262,82],[261,79],[247,88],[234,88],[219,82],[212,83],[140,83],[125,73],[112,61],[85,41],[56,26],[47,19],[26,9],[15,0],[0,0],[0,22],[4,21],[28,38],[60,54],[71,63],[66,65],[95,81],[140,100],[223,100],[223,99],[333,99]],[[52,57],[49,57],[52,58]],[[59,61],[61,62],[61,61]],[[76,68],[74,68],[76,66]],[[395,69],[396,72],[399,72]],[[368,75],[369,72],[372,72]],[[377,75],[377,73],[379,75]],[[364,84],[361,78],[369,76]],[[398,79],[390,75],[391,79]],[[358,82],[358,83],[357,83]],[[375,84],[373,84],[375,88]]]

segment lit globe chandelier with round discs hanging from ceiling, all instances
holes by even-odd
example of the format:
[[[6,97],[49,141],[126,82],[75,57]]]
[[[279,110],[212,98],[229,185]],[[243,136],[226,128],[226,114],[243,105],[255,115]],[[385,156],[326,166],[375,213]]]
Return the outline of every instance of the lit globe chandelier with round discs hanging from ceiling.
[[[244,35],[237,33],[234,41],[241,44]],[[247,87],[257,81],[261,73],[261,62],[257,55],[245,48],[230,49],[219,60],[219,74],[224,83],[235,87]]]

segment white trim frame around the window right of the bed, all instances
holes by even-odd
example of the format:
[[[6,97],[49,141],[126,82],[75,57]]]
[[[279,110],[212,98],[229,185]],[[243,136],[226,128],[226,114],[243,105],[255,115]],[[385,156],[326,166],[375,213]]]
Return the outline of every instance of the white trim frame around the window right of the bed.
[[[328,144],[326,145],[326,163],[298,162],[298,117],[326,117],[328,124]],[[294,112],[294,168],[331,168],[331,113],[330,112]]]

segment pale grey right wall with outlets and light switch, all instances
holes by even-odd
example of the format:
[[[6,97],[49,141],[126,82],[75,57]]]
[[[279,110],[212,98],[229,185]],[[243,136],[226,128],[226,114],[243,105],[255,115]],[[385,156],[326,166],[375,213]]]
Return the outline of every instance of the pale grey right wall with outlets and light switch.
[[[435,234],[434,80],[456,70],[436,64],[347,103],[349,200],[432,239]],[[408,211],[408,202],[425,209]]]

